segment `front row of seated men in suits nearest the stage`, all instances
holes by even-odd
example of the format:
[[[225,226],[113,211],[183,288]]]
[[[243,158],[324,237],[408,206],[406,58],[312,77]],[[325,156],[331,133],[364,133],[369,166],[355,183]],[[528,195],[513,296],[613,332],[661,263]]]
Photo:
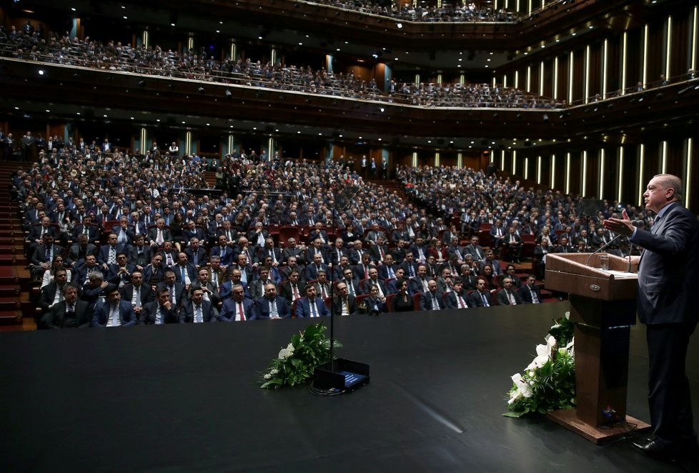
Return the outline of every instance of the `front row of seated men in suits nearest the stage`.
[[[185,286],[169,272],[166,281],[151,289],[142,282],[142,274],[132,274],[132,284],[119,287],[104,281],[98,272],[80,290],[67,282],[66,269],[59,269],[52,282],[55,301],[41,317],[40,328],[68,329],[82,327],[120,327],[127,325],[159,325],[171,323],[244,322],[255,319],[289,317],[327,317],[354,314],[376,315],[382,312],[412,312],[441,309],[468,309],[493,305],[540,304],[542,296],[533,276],[527,277],[519,289],[517,279],[503,278],[504,288],[489,291],[487,281],[477,278],[476,289],[466,291],[464,282],[455,279],[444,292],[437,281],[427,283],[427,291],[410,295],[409,279],[397,280],[397,292],[382,294],[380,286],[370,284],[367,294],[350,294],[350,284],[340,280],[334,284],[334,295],[318,292],[317,283],[307,283],[304,296],[289,299],[277,294],[277,286],[262,279],[263,294],[249,297],[242,284],[233,283],[230,296],[220,301],[206,282]],[[204,270],[205,278],[206,270]],[[293,283],[291,283],[293,284]],[[322,283],[321,283],[322,284]],[[48,289],[49,287],[47,287]],[[321,293],[322,294],[322,293]],[[48,290],[46,295],[49,295]],[[42,297],[44,294],[42,294]],[[219,302],[217,302],[217,300]]]

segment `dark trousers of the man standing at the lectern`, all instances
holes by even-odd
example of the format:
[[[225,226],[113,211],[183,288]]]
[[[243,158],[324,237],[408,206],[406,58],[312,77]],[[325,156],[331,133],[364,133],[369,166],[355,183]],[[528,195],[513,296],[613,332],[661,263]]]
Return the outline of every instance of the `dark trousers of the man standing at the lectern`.
[[[656,442],[670,448],[697,449],[685,361],[696,324],[650,324],[648,405]]]

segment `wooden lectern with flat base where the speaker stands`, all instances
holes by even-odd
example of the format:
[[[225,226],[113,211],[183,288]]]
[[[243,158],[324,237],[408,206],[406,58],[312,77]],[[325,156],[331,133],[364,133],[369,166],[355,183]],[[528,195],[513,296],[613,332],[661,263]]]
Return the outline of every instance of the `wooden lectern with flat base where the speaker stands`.
[[[638,271],[628,259],[609,255],[609,271],[599,254],[546,256],[546,289],[567,292],[575,323],[575,409],[551,412],[555,422],[600,444],[650,425],[626,415],[630,327],[636,323]],[[624,419],[626,422],[623,422]]]

